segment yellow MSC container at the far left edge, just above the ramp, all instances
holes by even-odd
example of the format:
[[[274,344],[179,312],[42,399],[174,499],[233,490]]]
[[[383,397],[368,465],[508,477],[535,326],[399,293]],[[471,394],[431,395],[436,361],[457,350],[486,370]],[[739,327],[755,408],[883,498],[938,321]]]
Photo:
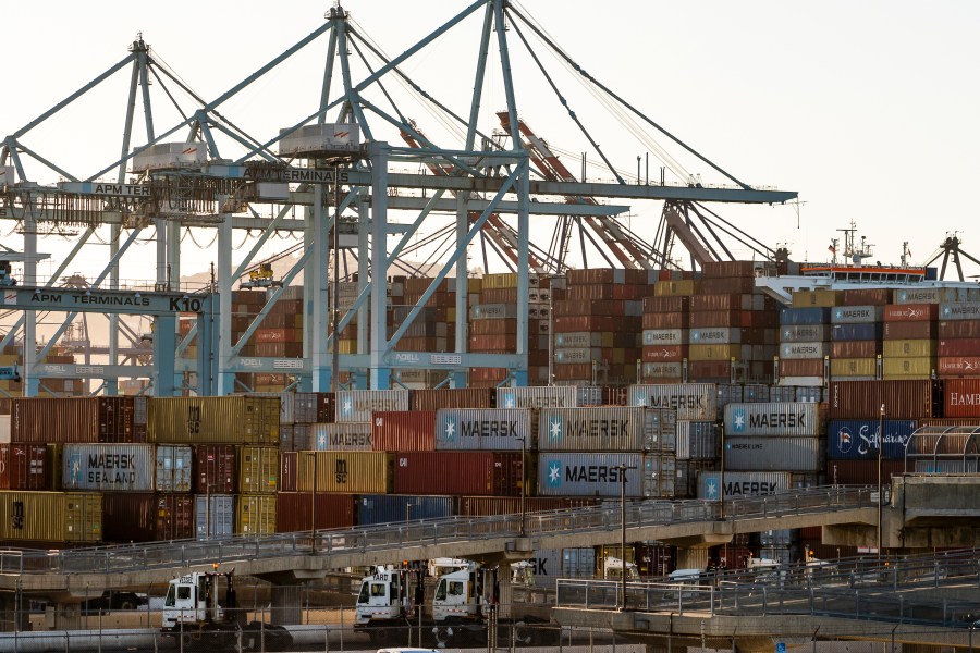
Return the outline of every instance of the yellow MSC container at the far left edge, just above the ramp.
[[[0,492],[0,539],[16,542],[101,542],[98,492]]]

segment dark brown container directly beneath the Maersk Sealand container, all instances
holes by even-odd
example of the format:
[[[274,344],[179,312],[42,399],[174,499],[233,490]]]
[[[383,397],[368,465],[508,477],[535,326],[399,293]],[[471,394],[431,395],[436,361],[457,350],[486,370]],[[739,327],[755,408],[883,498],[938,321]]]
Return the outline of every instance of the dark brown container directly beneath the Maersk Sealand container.
[[[107,493],[102,497],[106,542],[162,542],[194,538],[194,497],[170,493]]]

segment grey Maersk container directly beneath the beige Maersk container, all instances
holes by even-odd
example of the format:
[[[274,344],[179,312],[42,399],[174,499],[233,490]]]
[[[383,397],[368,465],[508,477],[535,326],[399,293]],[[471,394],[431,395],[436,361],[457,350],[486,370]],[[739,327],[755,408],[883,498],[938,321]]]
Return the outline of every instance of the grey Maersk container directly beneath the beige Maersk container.
[[[541,453],[538,455],[540,496],[618,497],[622,489],[618,467],[625,465],[625,492],[629,498],[648,496],[656,479],[645,478],[642,454]]]

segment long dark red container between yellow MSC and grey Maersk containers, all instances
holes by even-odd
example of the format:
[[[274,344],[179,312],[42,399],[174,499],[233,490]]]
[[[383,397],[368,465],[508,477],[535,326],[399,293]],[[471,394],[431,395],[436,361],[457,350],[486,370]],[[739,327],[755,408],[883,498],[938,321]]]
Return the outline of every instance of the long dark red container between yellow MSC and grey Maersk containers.
[[[519,453],[406,452],[395,459],[395,494],[519,496]]]

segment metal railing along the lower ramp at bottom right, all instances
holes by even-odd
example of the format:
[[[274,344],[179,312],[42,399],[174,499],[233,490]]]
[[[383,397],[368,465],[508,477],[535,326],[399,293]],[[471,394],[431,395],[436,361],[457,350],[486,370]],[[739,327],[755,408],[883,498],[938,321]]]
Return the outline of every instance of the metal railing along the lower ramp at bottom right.
[[[617,609],[623,583],[560,579],[556,607]],[[711,616],[804,615],[898,624],[980,626],[980,549],[912,558],[841,558],[734,574],[693,582],[627,582],[625,605],[638,612]],[[920,600],[915,592],[965,589],[977,600]]]

